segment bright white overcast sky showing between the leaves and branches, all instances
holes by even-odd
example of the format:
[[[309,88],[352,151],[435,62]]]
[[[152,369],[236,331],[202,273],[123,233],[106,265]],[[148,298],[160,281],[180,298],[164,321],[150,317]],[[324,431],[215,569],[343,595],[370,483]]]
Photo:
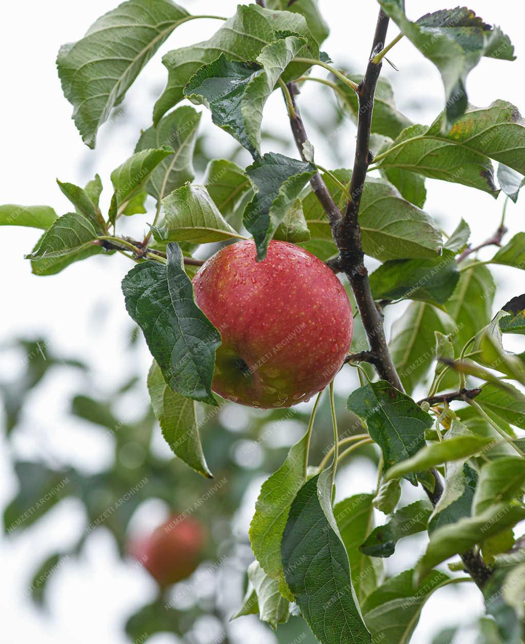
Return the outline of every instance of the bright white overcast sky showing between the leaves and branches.
[[[193,14],[217,12],[223,15],[233,14],[236,5],[231,0],[181,0],[181,4]],[[451,3],[450,6],[455,4]],[[130,109],[129,120],[111,128],[102,127],[98,147],[90,151],[82,144],[70,118],[72,108],[60,90],[55,57],[60,44],[80,38],[89,24],[115,5],[108,0],[91,0],[90,3],[27,0],[24,3],[3,4],[0,38],[0,60],[3,61],[0,203],[46,204],[62,214],[69,209],[69,205],[57,188],[55,178],[58,176],[60,180],[83,185],[98,171],[106,186],[103,203],[107,205],[111,194],[109,173],[133,153],[140,128],[147,128],[151,124],[152,106],[166,77],[165,68],[160,62],[162,53],[201,40],[218,28],[216,21],[192,21],[176,30],[129,91],[125,101]],[[376,21],[376,3],[371,0],[350,3],[321,0],[321,6],[331,24],[331,35],[323,49],[337,64],[347,62],[352,64],[354,71],[363,70]],[[407,0],[407,6],[413,18],[443,8],[442,3],[434,1]],[[500,3],[473,0],[469,6],[485,21],[501,24],[515,44],[518,55],[514,63],[484,59],[468,79],[470,102],[485,106],[501,98],[525,109],[522,82],[525,68],[521,58],[522,24],[525,18],[523,6],[510,0]],[[396,33],[396,27],[392,25],[389,40]],[[414,120],[430,122],[443,104],[443,88],[438,71],[404,40],[396,45],[390,57],[400,68],[399,72],[395,72],[385,66],[385,73],[394,88],[400,90],[397,94],[398,108]],[[310,88],[307,84],[300,104],[308,104],[309,97],[315,97],[309,109],[322,119],[323,101],[331,100],[331,96],[319,91],[317,87]],[[282,100],[277,93],[268,102],[263,125],[282,137],[289,136]],[[210,128],[209,113],[203,117],[203,126]],[[228,135],[217,128],[215,130],[216,156],[220,157],[225,155],[225,149],[231,149],[232,144]],[[347,138],[347,163],[350,165],[354,147],[353,128],[349,127],[341,136]],[[311,138],[317,162],[325,167],[333,167],[330,146],[322,137]],[[470,223],[475,243],[497,227],[502,198],[496,202],[479,191],[430,180],[427,180],[427,189],[425,210],[435,216],[448,232],[452,231],[461,216]],[[522,209],[520,201],[517,206],[509,206],[507,223],[511,233],[522,229]],[[136,217],[133,225],[137,234],[145,227],[143,222],[145,216]],[[127,260],[121,256],[100,257],[75,264],[57,276],[37,278],[30,273],[30,265],[23,260],[23,254],[32,249],[39,231],[3,228],[1,234],[4,306],[0,345],[14,336],[43,336],[56,353],[87,359],[93,366],[95,386],[99,390],[125,381],[129,370],[126,361],[129,358],[123,357],[120,347],[124,345],[124,336],[131,324],[124,310],[120,279],[129,268]],[[522,277],[516,270],[501,268],[494,272],[501,283],[501,290],[497,292],[497,310],[523,289],[519,285]],[[104,323],[97,321],[100,318],[93,314],[95,307],[105,311]],[[391,317],[398,316],[400,311],[391,312]],[[147,351],[142,350],[140,357],[146,374],[149,366]],[[3,360],[0,363],[0,379],[7,379],[18,367],[15,361]],[[107,445],[103,442],[99,444],[91,431],[71,424],[64,427],[60,422],[64,418],[64,406],[69,394],[76,392],[77,386],[80,388],[82,381],[75,380],[73,374],[58,380],[51,379],[31,401],[25,421],[26,438],[19,440],[16,445],[19,455],[37,458],[42,450],[50,451],[63,462],[71,462],[88,470],[98,469],[104,459],[109,458]],[[93,465],[95,462],[97,466]],[[350,480],[344,480],[349,493],[360,491],[364,486],[363,480],[358,480],[355,474],[351,480],[357,480],[359,489],[351,486]],[[363,476],[364,480],[369,480],[365,472]],[[3,506],[15,486],[10,460],[5,455],[0,459],[0,481],[0,505]],[[11,644],[36,640],[41,644],[91,644],[98,641],[100,644],[120,644],[126,641],[121,630],[125,616],[142,601],[151,598],[153,588],[141,571],[130,571],[118,562],[111,539],[106,535],[94,535],[89,542],[86,559],[64,566],[57,573],[50,587],[51,618],[43,618],[33,611],[30,602],[24,599],[28,574],[34,565],[53,551],[53,545],[73,540],[82,525],[82,515],[76,507],[66,504],[50,513],[45,524],[39,529],[29,530],[16,541],[8,542],[3,538],[0,544],[3,562],[0,600],[3,642]],[[401,565],[413,557],[410,549],[409,540],[399,545],[396,554],[400,555]],[[425,607],[414,642],[430,642],[430,633],[436,629],[448,623],[465,621],[479,611],[481,600],[477,591],[465,584],[459,590],[444,589]],[[235,630],[243,637],[240,625]],[[250,634],[250,639],[259,641],[255,634]],[[157,644],[170,641],[174,641],[170,636],[151,639],[152,643]],[[274,640],[268,636],[260,641]]]

